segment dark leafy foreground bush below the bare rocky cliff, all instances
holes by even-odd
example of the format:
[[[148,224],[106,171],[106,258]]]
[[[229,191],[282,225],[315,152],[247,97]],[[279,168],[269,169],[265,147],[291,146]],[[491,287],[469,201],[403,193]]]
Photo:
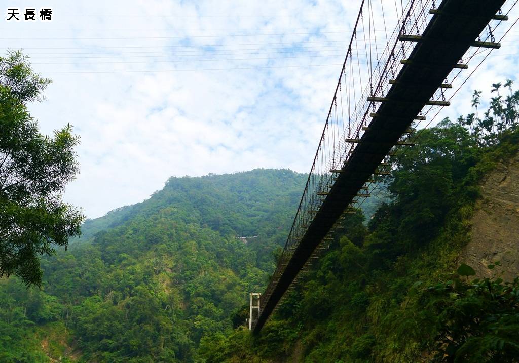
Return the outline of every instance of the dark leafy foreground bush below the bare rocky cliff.
[[[499,262],[488,265],[489,269]],[[427,316],[434,328],[435,352],[431,362],[516,362],[519,353],[519,277],[476,278],[474,270],[462,264],[460,277],[427,286],[416,303],[417,316]],[[463,281],[467,278],[467,282]],[[415,318],[417,318],[415,316]],[[420,322],[420,317],[415,324]]]

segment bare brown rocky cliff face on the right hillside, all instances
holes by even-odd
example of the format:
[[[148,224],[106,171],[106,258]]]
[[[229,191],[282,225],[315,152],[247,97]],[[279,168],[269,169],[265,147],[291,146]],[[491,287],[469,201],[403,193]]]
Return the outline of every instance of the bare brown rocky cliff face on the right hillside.
[[[477,277],[519,275],[519,155],[500,162],[482,184],[483,199],[472,218],[471,242],[460,261],[476,271]],[[501,267],[487,268],[500,261]]]

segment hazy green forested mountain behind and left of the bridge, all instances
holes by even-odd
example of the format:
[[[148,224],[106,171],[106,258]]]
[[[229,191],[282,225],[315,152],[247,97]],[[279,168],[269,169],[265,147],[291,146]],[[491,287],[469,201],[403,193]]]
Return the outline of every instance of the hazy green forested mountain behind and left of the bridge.
[[[232,329],[264,288],[305,182],[289,170],[170,178],[87,221],[43,260],[42,291],[2,281],[0,361],[197,361],[201,337]]]

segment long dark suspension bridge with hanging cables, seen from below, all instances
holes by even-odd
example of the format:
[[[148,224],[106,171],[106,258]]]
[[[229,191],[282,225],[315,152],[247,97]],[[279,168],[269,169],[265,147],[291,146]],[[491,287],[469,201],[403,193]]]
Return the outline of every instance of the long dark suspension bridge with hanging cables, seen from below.
[[[388,157],[412,145],[414,125],[450,104],[445,92],[468,61],[500,47],[495,33],[508,20],[508,3],[362,0],[282,255],[263,294],[251,294],[253,332],[342,228],[345,214],[369,197],[375,178],[390,174]]]

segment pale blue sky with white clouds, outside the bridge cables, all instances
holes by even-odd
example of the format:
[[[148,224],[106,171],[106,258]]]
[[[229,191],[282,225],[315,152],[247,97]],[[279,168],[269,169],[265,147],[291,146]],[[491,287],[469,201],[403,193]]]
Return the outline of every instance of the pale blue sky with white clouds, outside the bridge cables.
[[[31,115],[45,134],[70,123],[80,136],[63,198],[88,218],[171,176],[309,172],[361,3],[0,1],[5,19],[9,8],[22,18],[0,21],[0,48],[23,49],[52,79]],[[52,20],[24,21],[25,7]],[[469,112],[472,90],[485,99],[490,83],[516,80],[518,37],[513,28],[431,125]]]

